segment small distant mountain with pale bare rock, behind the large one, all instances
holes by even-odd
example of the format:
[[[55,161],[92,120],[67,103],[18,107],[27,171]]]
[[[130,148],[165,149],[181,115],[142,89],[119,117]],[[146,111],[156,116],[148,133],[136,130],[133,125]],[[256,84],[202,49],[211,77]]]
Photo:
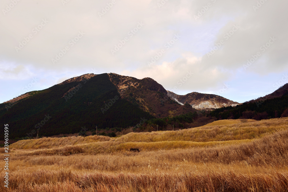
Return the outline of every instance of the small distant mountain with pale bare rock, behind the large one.
[[[177,95],[171,91],[167,91],[168,96],[174,99],[179,104],[190,104],[194,109],[198,110],[213,110],[221,107],[236,106],[239,103],[226,99],[224,97],[213,95],[213,94],[203,94],[192,92],[186,95]]]

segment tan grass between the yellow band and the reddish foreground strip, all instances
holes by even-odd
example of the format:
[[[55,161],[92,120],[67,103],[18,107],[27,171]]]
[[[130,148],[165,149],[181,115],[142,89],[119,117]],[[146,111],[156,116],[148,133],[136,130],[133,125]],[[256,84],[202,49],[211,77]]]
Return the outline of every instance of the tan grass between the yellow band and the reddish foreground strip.
[[[74,169],[92,168],[109,171],[120,171],[125,169],[130,170],[135,166],[140,168],[147,167],[149,164],[153,167],[162,168],[166,162],[202,162],[202,163],[217,163],[217,164],[233,164],[249,166],[285,166],[288,165],[288,130],[276,132],[267,135],[261,139],[252,142],[217,146],[217,147],[197,147],[187,149],[172,149],[172,150],[154,150],[141,151],[134,153],[130,151],[119,151],[114,153],[105,153],[98,155],[69,155],[63,157],[54,154],[30,154],[15,153],[13,160],[25,161],[31,165],[71,165]],[[77,146],[75,146],[77,147]],[[71,153],[73,154],[73,153]],[[136,158],[134,158],[136,157]],[[77,163],[79,162],[79,163]],[[79,166],[79,164],[81,166]],[[164,170],[167,170],[164,166]]]

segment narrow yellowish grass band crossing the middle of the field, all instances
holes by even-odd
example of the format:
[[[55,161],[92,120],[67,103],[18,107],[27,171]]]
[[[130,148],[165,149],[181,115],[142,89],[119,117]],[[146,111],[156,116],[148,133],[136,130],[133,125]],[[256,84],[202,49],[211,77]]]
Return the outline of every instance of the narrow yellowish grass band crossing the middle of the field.
[[[194,141],[160,141],[160,142],[126,142],[117,144],[113,141],[87,143],[79,145],[67,145],[53,147],[49,149],[21,150],[25,155],[71,155],[77,153],[88,154],[109,154],[118,151],[129,151],[131,148],[137,148],[140,151],[170,150],[170,149],[188,149],[195,147],[214,147],[239,143],[250,142],[251,140],[230,140],[230,141],[212,141],[212,142],[194,142]],[[12,149],[13,152],[19,150]],[[3,153],[4,149],[0,150]]]

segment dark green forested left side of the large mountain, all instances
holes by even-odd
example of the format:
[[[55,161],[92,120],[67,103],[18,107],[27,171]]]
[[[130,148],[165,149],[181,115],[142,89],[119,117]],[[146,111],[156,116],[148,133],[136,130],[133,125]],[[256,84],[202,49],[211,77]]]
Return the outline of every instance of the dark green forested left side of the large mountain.
[[[126,128],[154,118],[122,99],[107,73],[82,75],[24,95],[14,103],[0,104],[0,121],[9,124],[10,138],[36,136],[38,130],[42,136],[52,136],[95,126]]]

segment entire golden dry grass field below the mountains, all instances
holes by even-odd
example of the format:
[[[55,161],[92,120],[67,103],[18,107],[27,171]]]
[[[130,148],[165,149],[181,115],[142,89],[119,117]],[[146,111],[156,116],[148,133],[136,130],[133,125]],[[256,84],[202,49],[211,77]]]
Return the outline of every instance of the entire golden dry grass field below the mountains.
[[[9,189],[0,161],[0,191],[285,192],[287,141],[288,118],[117,138],[20,140],[9,147]]]

